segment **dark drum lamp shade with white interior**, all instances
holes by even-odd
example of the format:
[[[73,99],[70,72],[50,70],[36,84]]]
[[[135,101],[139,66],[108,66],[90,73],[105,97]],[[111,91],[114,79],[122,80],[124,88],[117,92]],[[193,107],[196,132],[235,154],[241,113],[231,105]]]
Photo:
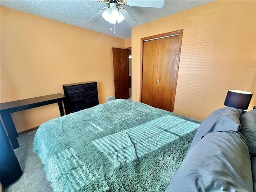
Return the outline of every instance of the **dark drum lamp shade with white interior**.
[[[237,109],[248,109],[252,93],[242,90],[228,90],[224,105]]]

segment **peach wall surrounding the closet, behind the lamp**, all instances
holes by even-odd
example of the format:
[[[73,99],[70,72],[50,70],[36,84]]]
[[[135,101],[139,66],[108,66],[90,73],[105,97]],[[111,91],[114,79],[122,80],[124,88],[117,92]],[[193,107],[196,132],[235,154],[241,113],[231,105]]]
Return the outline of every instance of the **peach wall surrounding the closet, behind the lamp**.
[[[184,29],[174,112],[204,120],[228,89],[254,93],[256,1],[216,1],[132,28],[132,100],[140,101],[141,38]]]

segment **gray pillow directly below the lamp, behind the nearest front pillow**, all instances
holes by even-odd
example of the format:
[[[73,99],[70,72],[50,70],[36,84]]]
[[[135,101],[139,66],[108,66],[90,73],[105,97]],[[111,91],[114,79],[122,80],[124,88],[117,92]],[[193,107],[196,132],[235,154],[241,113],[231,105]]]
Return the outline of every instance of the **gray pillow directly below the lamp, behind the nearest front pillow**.
[[[242,110],[233,107],[224,107],[212,112],[198,127],[188,152],[207,133],[228,130],[238,131],[241,127],[239,118],[242,112]]]

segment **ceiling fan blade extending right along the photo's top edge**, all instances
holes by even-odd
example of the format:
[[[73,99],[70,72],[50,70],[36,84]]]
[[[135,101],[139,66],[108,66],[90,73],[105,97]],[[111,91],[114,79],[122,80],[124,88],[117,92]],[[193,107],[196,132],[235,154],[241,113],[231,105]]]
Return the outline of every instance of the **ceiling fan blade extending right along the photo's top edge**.
[[[127,4],[133,7],[155,7],[164,6],[164,0],[127,0]]]

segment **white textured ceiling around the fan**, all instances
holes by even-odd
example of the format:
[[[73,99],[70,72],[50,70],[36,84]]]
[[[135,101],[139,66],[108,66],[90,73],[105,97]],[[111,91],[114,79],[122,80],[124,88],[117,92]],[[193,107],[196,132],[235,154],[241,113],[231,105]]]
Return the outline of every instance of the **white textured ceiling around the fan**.
[[[212,1],[165,0],[162,8],[127,7],[122,5],[120,7],[124,7],[137,23],[130,26],[124,20],[116,24],[115,35],[114,26],[112,25],[111,31],[110,23],[102,17],[95,23],[88,22],[101,8],[106,6],[106,4],[97,2],[97,0],[1,0],[0,5],[119,38],[130,38],[131,28],[134,26],[142,25]]]

